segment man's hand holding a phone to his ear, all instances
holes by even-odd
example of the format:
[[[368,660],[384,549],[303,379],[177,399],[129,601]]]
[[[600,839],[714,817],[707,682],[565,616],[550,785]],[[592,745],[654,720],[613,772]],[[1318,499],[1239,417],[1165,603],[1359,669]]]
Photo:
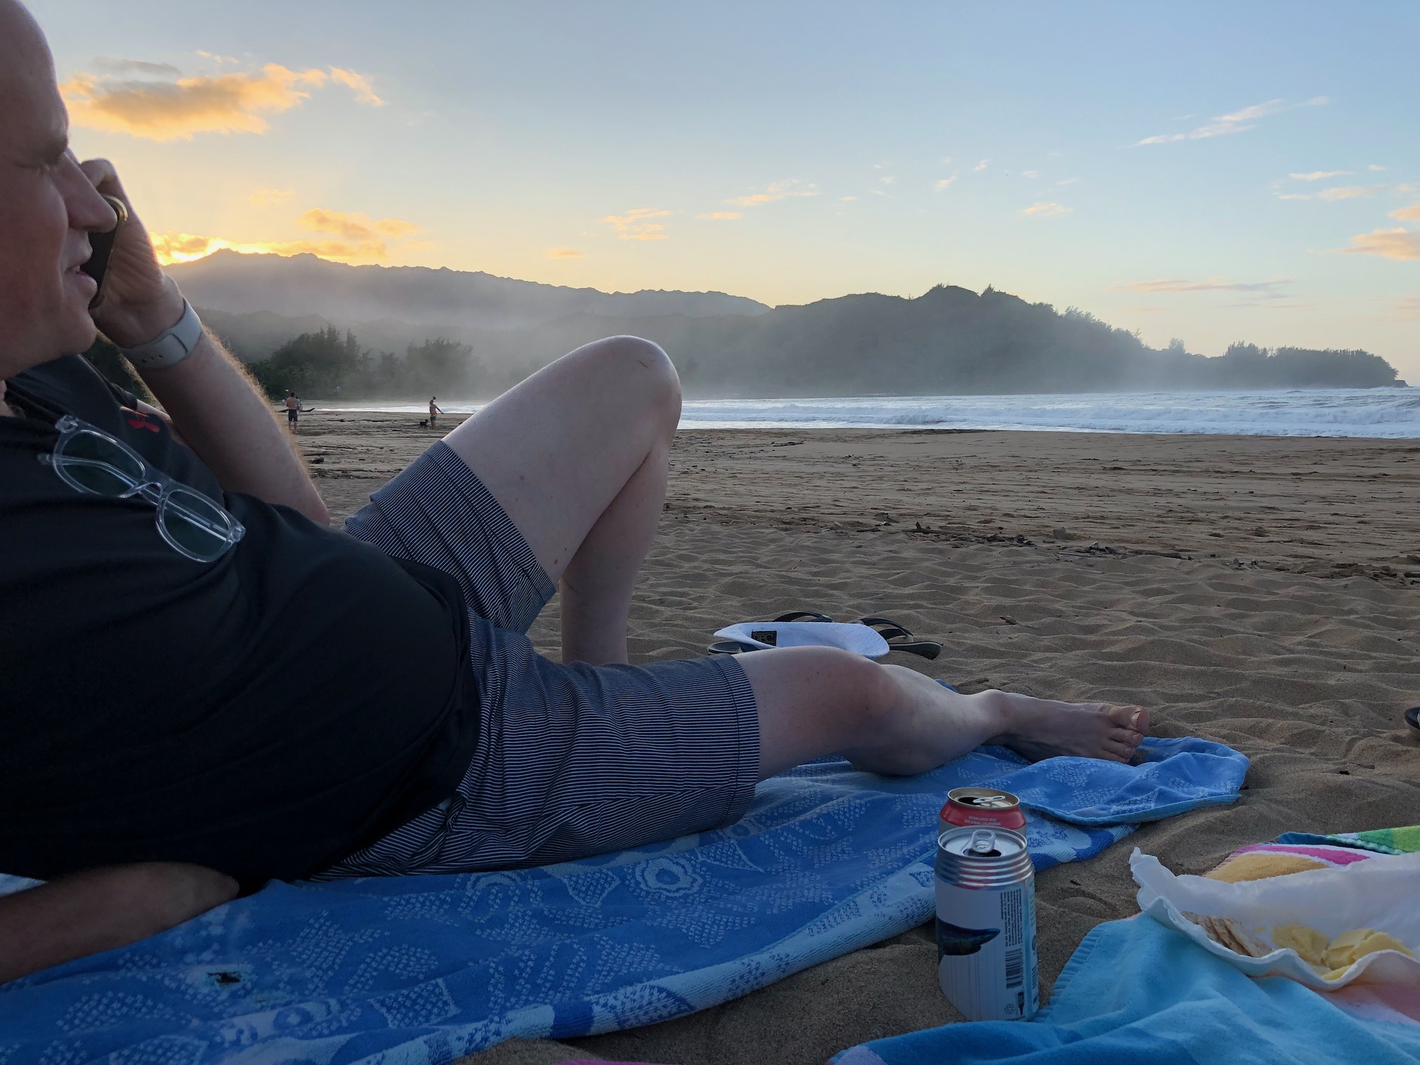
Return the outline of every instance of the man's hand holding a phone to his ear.
[[[119,348],[146,344],[182,318],[182,293],[158,266],[153,243],[124,192],[108,159],[88,159],[80,168],[105,196],[128,207],[128,222],[118,234],[104,275],[104,301],[94,308],[94,322]]]

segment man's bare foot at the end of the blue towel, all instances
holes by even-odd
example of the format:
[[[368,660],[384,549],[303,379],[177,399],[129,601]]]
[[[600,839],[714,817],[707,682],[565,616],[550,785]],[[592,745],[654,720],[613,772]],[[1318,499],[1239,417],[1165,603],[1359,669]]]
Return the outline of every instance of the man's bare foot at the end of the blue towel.
[[[1149,711],[1110,703],[1058,703],[1011,692],[994,692],[1005,730],[990,743],[1031,760],[1074,754],[1129,761],[1149,730]]]

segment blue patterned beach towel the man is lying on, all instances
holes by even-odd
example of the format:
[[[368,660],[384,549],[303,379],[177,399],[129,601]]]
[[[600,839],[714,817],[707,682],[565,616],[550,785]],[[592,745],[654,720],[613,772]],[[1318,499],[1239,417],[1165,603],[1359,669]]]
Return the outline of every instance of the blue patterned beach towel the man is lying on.
[[[1152,740],[1142,765],[995,747],[885,778],[842,760],[760,785],[716,832],[541,869],[273,883],[186,924],[0,985],[0,1065],[442,1065],[701,1010],[932,914],[946,791],[1030,808],[1038,869],[1231,802],[1247,760]]]

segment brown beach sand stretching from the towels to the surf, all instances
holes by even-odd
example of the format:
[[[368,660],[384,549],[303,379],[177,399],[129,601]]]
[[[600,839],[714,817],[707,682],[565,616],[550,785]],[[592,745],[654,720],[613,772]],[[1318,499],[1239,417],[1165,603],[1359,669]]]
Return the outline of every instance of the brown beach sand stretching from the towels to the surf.
[[[344,517],[437,439],[317,413],[302,444]],[[1420,821],[1420,442],[947,432],[687,432],[632,611],[633,660],[811,608],[946,643],[903,665],[964,690],[1137,701],[1162,736],[1252,760],[1241,799],[1041,875],[1042,990],[1136,912],[1132,846],[1176,872],[1285,831]],[[557,604],[532,630],[557,655]],[[822,1062],[958,1020],[926,927],[721,1007],[467,1061]]]

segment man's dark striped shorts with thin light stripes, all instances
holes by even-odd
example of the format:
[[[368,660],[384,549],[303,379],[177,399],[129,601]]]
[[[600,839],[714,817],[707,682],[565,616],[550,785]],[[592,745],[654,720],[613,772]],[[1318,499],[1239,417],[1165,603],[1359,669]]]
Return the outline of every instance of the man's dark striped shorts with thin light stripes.
[[[480,730],[447,801],[318,879],[547,865],[744,814],[760,724],[734,656],[588,666],[538,655],[525,633],[552,582],[444,443],[371,496],[345,530],[463,585]]]

